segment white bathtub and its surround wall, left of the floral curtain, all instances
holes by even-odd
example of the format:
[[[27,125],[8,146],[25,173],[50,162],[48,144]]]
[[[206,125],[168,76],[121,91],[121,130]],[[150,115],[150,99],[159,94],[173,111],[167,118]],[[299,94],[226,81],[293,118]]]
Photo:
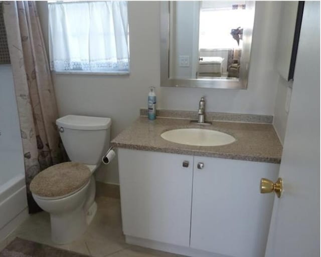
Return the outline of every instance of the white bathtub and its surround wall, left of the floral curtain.
[[[25,166],[10,65],[0,65],[0,241],[28,217]]]

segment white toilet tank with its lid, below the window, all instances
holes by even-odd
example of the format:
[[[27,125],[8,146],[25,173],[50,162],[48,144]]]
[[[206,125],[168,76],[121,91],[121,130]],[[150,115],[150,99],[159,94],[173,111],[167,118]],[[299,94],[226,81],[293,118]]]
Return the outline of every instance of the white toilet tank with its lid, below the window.
[[[110,118],[67,115],[56,124],[71,161],[100,163],[109,148]]]

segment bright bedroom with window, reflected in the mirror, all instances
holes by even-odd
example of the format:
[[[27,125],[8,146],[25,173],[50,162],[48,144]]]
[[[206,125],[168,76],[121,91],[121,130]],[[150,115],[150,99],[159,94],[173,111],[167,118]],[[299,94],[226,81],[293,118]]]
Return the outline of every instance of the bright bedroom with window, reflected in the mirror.
[[[197,78],[239,78],[245,21],[245,2],[201,2]]]

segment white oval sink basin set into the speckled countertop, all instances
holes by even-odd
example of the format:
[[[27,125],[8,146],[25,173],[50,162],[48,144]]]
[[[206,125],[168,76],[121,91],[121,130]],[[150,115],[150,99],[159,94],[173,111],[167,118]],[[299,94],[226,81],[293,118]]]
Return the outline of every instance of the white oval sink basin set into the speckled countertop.
[[[226,133],[210,129],[174,129],[161,134],[167,141],[184,145],[217,146],[233,143],[236,139]]]

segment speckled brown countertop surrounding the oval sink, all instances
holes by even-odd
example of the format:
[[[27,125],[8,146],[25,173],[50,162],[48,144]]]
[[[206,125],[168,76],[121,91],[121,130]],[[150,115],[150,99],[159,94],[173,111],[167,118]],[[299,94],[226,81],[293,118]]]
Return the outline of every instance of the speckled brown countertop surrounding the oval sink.
[[[190,146],[169,142],[165,131],[179,128],[206,128],[230,134],[236,141],[222,146]],[[197,125],[187,119],[139,117],[111,141],[113,147],[195,156],[280,163],[282,145],[272,124],[213,121]]]

